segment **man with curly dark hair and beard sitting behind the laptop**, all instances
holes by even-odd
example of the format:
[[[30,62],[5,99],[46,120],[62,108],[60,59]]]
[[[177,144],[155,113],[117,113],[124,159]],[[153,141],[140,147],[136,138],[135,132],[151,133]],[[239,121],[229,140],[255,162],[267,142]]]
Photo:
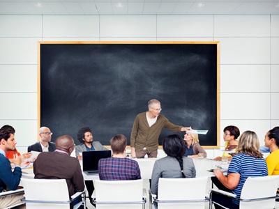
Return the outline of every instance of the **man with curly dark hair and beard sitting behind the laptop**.
[[[93,151],[93,150],[107,150],[99,141],[93,141],[93,136],[90,127],[82,127],[77,132],[77,139],[80,141],[80,145],[75,147],[75,155],[78,160],[82,160],[82,155],[80,153],[85,151]],[[94,191],[94,185],[92,180],[85,180],[86,189],[88,192],[90,203],[92,203],[92,194]],[[92,203],[93,204],[93,203]],[[93,204],[95,207],[95,205]]]

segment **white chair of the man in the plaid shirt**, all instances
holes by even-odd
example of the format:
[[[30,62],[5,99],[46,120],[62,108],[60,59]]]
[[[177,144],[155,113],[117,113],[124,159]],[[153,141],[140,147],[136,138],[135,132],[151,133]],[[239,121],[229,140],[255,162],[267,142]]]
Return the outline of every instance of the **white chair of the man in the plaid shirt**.
[[[94,180],[92,195],[96,208],[145,208],[146,191],[143,180]]]

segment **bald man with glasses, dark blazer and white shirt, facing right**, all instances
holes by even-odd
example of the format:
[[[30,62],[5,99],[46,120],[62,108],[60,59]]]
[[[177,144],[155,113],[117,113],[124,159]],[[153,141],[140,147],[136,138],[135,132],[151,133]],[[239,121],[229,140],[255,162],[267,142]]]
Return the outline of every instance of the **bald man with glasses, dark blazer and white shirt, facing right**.
[[[48,127],[40,127],[39,130],[40,141],[28,146],[28,153],[31,151],[36,152],[54,152],[55,144],[52,140],[52,132]]]

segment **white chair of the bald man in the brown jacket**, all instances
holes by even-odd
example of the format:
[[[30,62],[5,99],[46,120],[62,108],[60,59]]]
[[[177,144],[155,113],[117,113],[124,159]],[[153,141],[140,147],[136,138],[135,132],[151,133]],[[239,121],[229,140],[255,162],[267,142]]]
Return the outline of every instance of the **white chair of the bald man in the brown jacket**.
[[[27,209],[70,208],[70,203],[82,196],[85,192],[77,192],[69,199],[68,186],[65,179],[27,179],[22,178]],[[82,202],[74,208],[80,207]],[[86,203],[84,201],[84,209]]]

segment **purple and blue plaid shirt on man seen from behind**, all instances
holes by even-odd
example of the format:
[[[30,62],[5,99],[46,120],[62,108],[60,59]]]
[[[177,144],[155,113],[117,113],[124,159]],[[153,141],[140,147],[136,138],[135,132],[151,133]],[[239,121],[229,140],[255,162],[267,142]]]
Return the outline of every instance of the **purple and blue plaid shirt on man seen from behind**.
[[[128,158],[100,159],[98,171],[100,180],[136,180],[142,178],[137,161]]]

